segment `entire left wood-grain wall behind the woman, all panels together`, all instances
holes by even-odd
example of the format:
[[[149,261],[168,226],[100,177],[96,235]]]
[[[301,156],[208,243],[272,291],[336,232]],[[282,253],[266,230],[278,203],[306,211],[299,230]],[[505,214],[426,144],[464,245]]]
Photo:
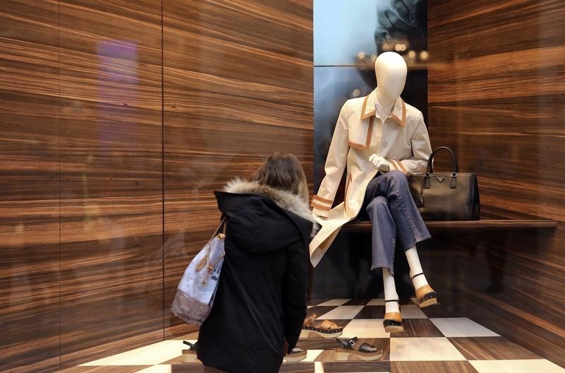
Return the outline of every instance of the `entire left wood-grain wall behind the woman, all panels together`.
[[[191,331],[169,312],[213,190],[312,174],[312,1],[4,1],[0,371]]]

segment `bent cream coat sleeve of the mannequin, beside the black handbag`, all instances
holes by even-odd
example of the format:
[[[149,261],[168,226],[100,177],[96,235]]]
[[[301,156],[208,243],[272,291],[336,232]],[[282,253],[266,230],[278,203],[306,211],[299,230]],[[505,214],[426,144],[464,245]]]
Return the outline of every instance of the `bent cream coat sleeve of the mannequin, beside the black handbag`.
[[[412,156],[410,158],[396,160],[387,159],[390,171],[398,170],[404,172],[407,176],[418,174],[426,171],[429,155],[432,154],[432,145],[429,143],[428,130],[424,123],[422,112],[419,113],[417,123],[410,144],[412,146]]]

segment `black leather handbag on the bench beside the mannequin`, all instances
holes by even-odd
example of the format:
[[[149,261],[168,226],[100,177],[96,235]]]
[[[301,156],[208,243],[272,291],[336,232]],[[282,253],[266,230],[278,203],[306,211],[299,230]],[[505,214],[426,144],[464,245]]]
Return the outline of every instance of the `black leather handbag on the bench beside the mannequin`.
[[[453,158],[453,172],[434,172],[434,155],[445,149]],[[410,193],[424,220],[479,220],[477,175],[459,172],[457,158],[446,146],[429,155],[425,174],[410,176]]]

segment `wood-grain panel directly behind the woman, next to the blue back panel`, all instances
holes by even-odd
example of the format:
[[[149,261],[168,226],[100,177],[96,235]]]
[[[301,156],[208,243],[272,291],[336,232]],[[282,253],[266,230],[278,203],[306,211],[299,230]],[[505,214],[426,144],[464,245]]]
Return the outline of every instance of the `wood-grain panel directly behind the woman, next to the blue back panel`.
[[[312,175],[311,1],[163,3],[166,336],[188,261],[219,213],[213,190],[274,151]]]

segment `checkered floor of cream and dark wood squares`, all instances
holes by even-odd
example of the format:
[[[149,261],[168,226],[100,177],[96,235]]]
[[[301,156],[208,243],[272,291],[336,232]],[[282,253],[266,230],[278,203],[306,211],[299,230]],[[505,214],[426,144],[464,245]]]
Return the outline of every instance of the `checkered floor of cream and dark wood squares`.
[[[333,353],[335,340],[306,338],[298,347],[308,350],[307,358],[283,363],[280,372],[565,372],[471,319],[444,317],[441,304],[420,309],[414,301],[401,306],[405,331],[392,338],[383,329],[384,300],[310,301],[308,314],[343,326],[340,338],[357,336],[381,348],[383,357],[372,362],[338,362]],[[208,372],[198,363],[182,364],[182,341],[195,338],[197,334],[192,333],[88,362],[81,365],[81,372]]]

